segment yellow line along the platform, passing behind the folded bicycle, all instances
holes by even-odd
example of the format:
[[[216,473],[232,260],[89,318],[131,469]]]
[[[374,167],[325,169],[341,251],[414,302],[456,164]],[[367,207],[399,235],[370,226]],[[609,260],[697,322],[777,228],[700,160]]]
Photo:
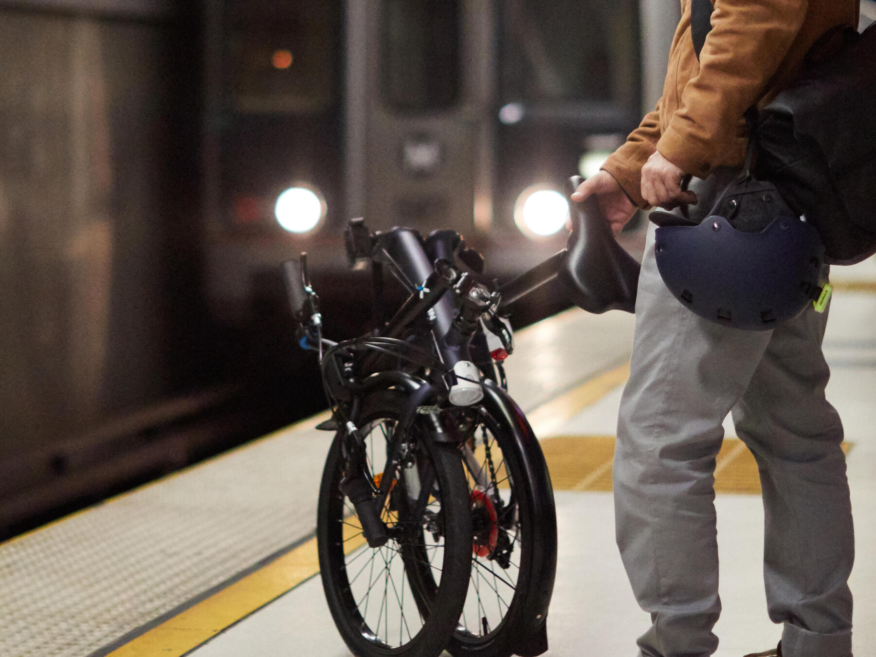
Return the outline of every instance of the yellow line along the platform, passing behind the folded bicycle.
[[[629,364],[606,371],[583,385],[552,399],[529,414],[536,434],[559,427],[583,406],[602,399],[629,376]],[[302,420],[309,427],[314,419]],[[288,429],[286,429],[288,430]],[[345,530],[347,527],[345,526]],[[361,534],[345,538],[349,554],[364,545]],[[213,639],[231,625],[270,604],[320,571],[316,539],[308,540],[265,567],[244,576],[223,590],[156,625],[107,657],[181,657]]]

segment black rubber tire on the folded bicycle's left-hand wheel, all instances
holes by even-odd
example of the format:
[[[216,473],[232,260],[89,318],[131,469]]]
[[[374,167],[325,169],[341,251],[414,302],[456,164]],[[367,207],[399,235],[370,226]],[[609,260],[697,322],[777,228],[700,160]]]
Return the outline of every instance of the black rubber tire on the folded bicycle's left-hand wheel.
[[[378,419],[398,420],[399,409],[404,407],[404,402],[404,394],[398,391],[373,392],[359,405],[361,410],[353,420],[357,426],[364,426]],[[343,470],[341,440],[342,434],[336,434],[326,459],[316,527],[323,590],[338,632],[350,651],[358,657],[437,657],[447,646],[450,635],[456,628],[456,621],[462,613],[471,568],[468,484],[459,454],[452,445],[423,442],[424,449],[428,450],[434,463],[435,475],[442,491],[442,512],[446,514],[447,531],[444,536],[441,583],[432,600],[431,613],[420,632],[404,646],[379,646],[364,637],[357,625],[357,619],[350,613],[349,603],[352,597],[345,601],[350,588],[347,586],[346,591],[344,590],[347,575],[343,548],[338,560],[337,540],[332,539],[332,532],[337,531],[330,524],[330,514],[336,513],[332,505],[340,504],[343,512],[343,495],[337,487]],[[450,533],[451,528],[453,534]]]

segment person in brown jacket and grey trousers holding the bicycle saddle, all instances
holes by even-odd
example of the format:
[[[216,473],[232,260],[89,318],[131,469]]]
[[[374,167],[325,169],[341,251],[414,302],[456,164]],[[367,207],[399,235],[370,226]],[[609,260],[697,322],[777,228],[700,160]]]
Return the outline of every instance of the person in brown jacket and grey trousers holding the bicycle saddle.
[[[857,0],[713,4],[697,60],[682,0],[660,102],[572,195],[596,194],[615,233],[636,208],[696,204],[702,219],[745,158],[745,110],[792,81],[824,34],[858,25]],[[682,189],[688,174],[694,184]],[[618,548],[652,620],[639,657],[717,649],[713,484],[729,412],[758,462],[767,611],[783,625],[781,644],[760,654],[851,657],[854,540],[843,427],[824,397],[826,321],[812,307],[768,331],[703,320],[664,285],[650,226],[614,464]]]

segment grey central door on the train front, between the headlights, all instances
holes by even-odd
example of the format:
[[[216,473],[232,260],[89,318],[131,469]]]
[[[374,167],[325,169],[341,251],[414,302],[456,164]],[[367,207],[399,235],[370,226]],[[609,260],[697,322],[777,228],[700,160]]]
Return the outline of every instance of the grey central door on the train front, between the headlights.
[[[489,225],[491,7],[348,4],[348,207],[373,228]]]

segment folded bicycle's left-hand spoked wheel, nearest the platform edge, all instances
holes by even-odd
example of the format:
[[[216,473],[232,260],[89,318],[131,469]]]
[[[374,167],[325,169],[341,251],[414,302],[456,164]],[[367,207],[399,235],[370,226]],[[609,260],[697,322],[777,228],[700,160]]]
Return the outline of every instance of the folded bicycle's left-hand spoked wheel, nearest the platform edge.
[[[400,392],[377,392],[354,418],[375,490],[404,402]],[[459,455],[449,445],[414,443],[409,467],[399,470],[381,510],[392,538],[370,548],[340,488],[342,440],[337,434],[329,451],[317,518],[322,584],[338,631],[359,657],[437,657],[456,627],[471,568],[469,493]],[[431,489],[428,504],[412,511],[423,488]]]

